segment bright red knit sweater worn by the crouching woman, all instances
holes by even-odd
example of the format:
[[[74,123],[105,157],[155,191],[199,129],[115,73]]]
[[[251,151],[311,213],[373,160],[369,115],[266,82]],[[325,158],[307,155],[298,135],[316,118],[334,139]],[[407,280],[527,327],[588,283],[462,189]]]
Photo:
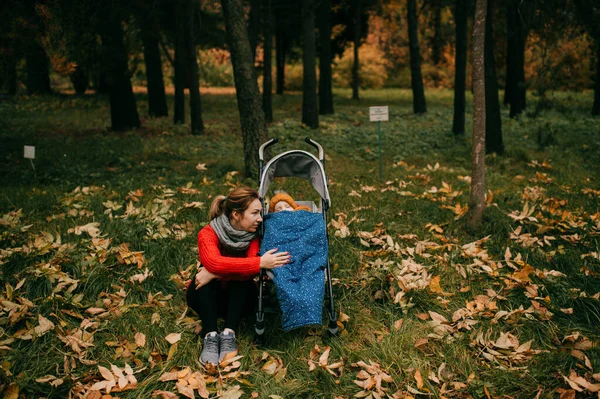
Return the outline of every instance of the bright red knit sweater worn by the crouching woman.
[[[200,263],[212,274],[225,280],[246,279],[260,272],[260,257],[258,238],[253,240],[248,250],[235,254],[224,251],[217,233],[209,224],[198,232],[198,252]]]

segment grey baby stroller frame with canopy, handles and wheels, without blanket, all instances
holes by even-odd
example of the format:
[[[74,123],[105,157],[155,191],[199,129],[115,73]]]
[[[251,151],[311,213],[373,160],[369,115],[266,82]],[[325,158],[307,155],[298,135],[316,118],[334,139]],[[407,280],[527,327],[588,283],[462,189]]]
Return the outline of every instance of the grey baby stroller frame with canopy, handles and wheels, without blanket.
[[[324,245],[329,245],[329,237],[327,235],[327,210],[331,206],[331,200],[329,198],[329,190],[327,188],[327,177],[325,175],[325,162],[323,147],[319,143],[310,138],[306,138],[305,142],[315,149],[318,150],[319,158],[307,151],[291,150],[283,152],[273,157],[267,164],[264,164],[264,152],[267,148],[274,144],[277,144],[278,139],[274,138],[263,145],[259,149],[259,189],[258,193],[260,196],[261,205],[263,208],[263,216],[268,212],[268,208],[265,207],[265,195],[269,189],[270,184],[276,177],[298,177],[309,180],[312,187],[320,196],[320,205],[315,204],[313,201],[296,201],[298,205],[307,206],[313,213],[321,213],[323,216],[324,223],[324,235],[326,242]],[[320,222],[319,222],[320,224]],[[264,236],[264,223],[261,224],[261,231],[259,233]],[[329,265],[329,257],[326,260],[326,267],[324,268],[324,279],[325,279],[325,296],[327,297],[329,313],[328,331],[331,335],[337,334],[337,315],[335,311],[335,305],[333,300],[333,289],[331,283],[331,270]],[[265,270],[261,270],[259,274],[258,284],[258,308],[256,313],[256,324],[254,330],[257,338],[262,339],[265,332],[265,294],[267,291],[266,281],[267,275]],[[322,306],[322,303],[320,304]],[[319,307],[321,309],[321,307]],[[321,324],[321,322],[319,322]]]

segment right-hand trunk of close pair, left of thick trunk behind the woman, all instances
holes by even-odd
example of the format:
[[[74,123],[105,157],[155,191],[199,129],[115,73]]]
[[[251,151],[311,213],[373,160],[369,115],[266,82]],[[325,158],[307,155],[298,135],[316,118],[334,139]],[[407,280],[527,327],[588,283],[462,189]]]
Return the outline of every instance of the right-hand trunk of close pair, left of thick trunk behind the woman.
[[[198,61],[196,60],[196,0],[185,0],[188,10],[185,23],[185,47],[187,55],[187,71],[189,74],[190,89],[190,120],[192,134],[204,133],[204,122],[202,121],[202,104],[200,100],[200,82],[198,81]]]

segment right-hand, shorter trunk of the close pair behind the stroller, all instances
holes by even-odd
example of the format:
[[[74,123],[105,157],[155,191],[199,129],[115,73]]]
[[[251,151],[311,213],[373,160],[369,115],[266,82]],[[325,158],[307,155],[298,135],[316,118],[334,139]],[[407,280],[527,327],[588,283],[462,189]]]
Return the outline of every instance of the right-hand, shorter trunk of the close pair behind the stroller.
[[[331,0],[321,0],[319,12],[319,114],[333,114],[331,75]]]

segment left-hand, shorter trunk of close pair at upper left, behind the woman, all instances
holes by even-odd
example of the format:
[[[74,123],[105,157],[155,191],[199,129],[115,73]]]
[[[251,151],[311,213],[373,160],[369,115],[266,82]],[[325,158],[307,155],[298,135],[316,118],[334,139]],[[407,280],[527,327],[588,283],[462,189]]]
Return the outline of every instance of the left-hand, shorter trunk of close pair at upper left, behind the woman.
[[[175,7],[175,108],[173,122],[185,123],[185,86],[186,86],[186,54],[185,54],[185,24],[184,3],[177,1]]]

